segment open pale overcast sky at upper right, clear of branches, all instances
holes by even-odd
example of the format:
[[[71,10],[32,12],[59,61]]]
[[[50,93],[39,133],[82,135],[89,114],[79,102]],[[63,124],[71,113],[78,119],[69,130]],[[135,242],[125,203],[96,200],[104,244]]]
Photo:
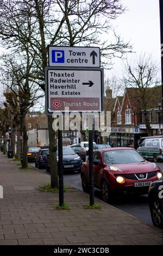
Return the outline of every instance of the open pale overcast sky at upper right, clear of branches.
[[[121,34],[124,41],[130,41],[133,51],[138,55],[141,52],[152,53],[160,65],[160,18],[159,0],[121,0],[128,9],[119,16],[112,24],[116,32]],[[129,58],[134,53],[128,54]],[[106,76],[113,73],[122,73],[122,61],[115,60],[114,70],[105,71]]]

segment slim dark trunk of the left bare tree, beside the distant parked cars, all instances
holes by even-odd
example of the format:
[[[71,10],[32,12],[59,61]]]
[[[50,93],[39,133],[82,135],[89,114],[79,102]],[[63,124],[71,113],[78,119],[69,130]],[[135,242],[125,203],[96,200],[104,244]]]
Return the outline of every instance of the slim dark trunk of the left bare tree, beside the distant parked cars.
[[[26,168],[28,166],[27,162],[27,129],[26,129],[26,114],[22,114],[22,133],[23,133],[23,148],[22,148],[22,168]]]

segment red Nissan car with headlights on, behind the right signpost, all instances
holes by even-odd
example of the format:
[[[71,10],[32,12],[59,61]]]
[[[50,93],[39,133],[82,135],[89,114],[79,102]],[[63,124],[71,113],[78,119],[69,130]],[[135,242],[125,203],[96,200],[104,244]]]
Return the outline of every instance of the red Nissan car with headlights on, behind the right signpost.
[[[146,161],[133,148],[108,148],[93,153],[95,187],[105,202],[115,194],[147,194],[152,181],[162,177],[155,163]],[[89,192],[89,159],[82,164],[82,187]]]

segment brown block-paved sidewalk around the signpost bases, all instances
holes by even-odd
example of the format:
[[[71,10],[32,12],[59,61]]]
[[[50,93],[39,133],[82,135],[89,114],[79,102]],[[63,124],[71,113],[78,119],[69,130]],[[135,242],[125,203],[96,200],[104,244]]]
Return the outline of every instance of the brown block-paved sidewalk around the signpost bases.
[[[0,245],[160,245],[162,232],[101,200],[101,210],[87,210],[89,195],[64,193],[72,209],[56,210],[58,194],[39,192],[50,176],[20,170],[0,155]]]

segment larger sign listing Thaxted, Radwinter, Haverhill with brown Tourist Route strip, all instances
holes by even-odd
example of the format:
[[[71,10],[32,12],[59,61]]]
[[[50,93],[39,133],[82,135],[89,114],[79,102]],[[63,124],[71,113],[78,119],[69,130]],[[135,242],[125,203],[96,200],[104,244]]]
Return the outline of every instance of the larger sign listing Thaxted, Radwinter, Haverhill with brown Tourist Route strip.
[[[46,112],[103,110],[103,69],[45,68]]]

